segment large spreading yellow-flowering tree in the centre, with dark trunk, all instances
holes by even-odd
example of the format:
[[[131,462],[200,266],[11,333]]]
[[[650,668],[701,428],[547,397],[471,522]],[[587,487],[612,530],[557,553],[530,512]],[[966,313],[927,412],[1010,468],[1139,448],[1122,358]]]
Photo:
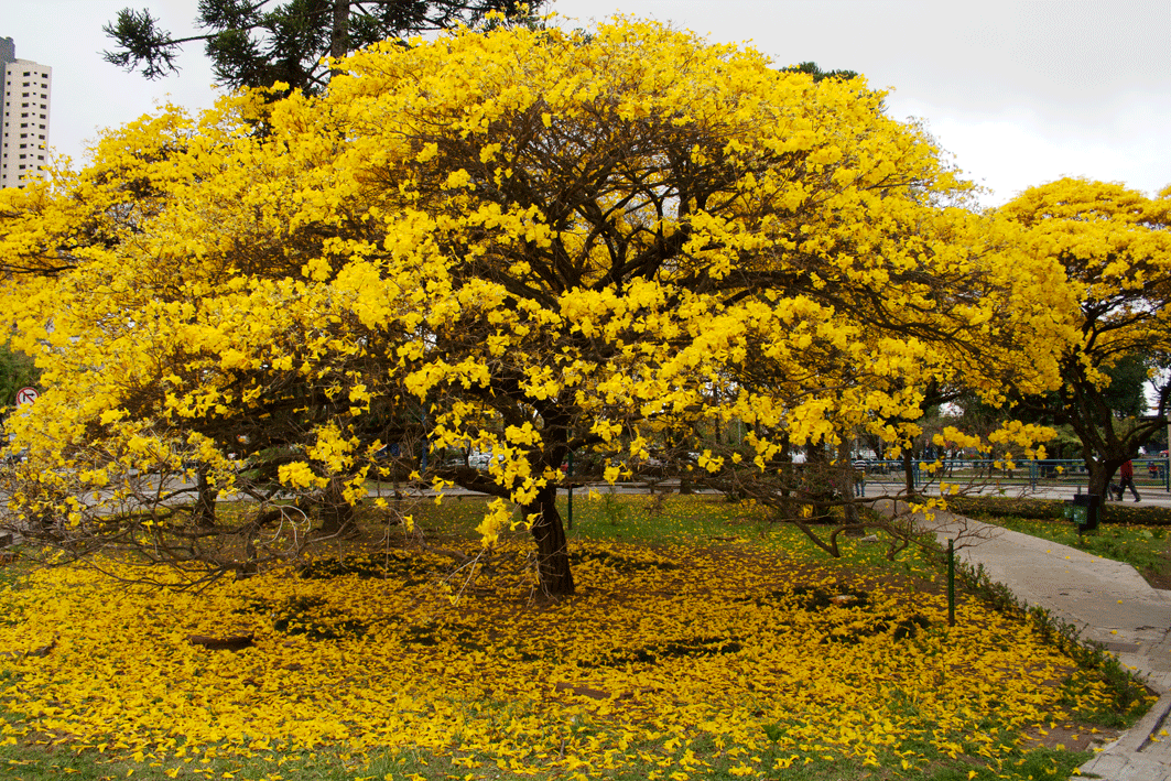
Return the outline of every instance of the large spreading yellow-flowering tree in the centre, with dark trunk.
[[[262,443],[283,492],[352,502],[372,448],[426,437],[495,454],[427,477],[497,496],[485,543],[523,525],[542,588],[569,594],[571,451],[612,480],[707,425],[745,432],[700,455],[712,473],[775,472],[843,425],[897,443],[936,377],[998,393],[985,350],[1009,331],[1012,365],[1053,385],[1064,324],[1034,293],[1056,267],[984,247],[933,144],[861,78],[631,20],[343,68],[321,96],[169,110],[4,196],[5,262],[32,281],[0,310],[46,366],[20,427],[59,467],[13,486],[26,523],[199,557],[274,518],[230,453]],[[371,441],[375,413],[393,424]],[[198,526],[129,468],[251,492],[255,514]]]

